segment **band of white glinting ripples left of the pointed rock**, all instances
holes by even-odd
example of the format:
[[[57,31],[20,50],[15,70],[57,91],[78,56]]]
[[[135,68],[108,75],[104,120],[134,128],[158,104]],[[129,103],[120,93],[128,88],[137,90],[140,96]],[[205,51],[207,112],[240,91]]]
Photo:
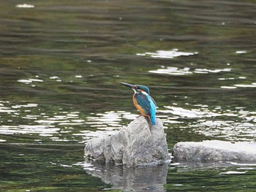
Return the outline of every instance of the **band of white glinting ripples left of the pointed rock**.
[[[30,110],[33,108],[34,110]],[[51,113],[51,112],[50,112]],[[53,115],[42,112],[38,104],[10,104],[9,101],[0,101],[0,115],[6,121],[1,120],[0,134],[37,134],[39,137],[48,137],[55,142],[71,142],[75,137],[81,138],[79,142],[86,142],[93,137],[103,137],[114,134],[127,123],[121,120],[133,120],[138,115],[125,111],[110,111],[103,113],[91,113],[86,120],[80,118],[80,112],[67,112],[59,108],[59,112]],[[23,120],[24,124],[14,123]],[[76,126],[84,126],[87,129],[75,130]],[[92,128],[92,130],[89,130]],[[72,135],[72,140],[67,139]],[[78,139],[78,138],[77,138]],[[42,142],[42,139],[34,139]],[[2,142],[6,140],[2,139]]]

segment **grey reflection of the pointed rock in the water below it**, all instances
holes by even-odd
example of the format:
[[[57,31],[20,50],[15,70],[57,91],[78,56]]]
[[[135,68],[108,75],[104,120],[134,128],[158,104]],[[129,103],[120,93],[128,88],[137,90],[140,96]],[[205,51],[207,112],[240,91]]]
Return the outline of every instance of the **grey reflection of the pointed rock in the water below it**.
[[[101,178],[113,185],[105,190],[121,189],[127,191],[165,191],[167,164],[156,166],[114,166],[110,164],[81,164],[88,174]]]

